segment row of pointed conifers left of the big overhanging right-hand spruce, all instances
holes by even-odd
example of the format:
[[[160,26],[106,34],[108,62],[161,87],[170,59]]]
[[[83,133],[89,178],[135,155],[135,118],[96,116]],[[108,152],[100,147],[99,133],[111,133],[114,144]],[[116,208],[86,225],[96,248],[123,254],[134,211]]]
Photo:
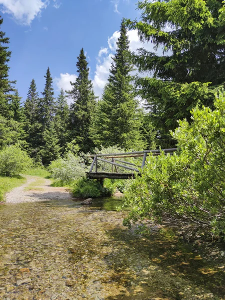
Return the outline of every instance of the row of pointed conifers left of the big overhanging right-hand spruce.
[[[8,43],[3,32],[1,35],[1,43]],[[113,145],[124,149],[152,147],[155,130],[135,99],[130,75],[133,64],[124,20],[108,83],[100,100],[93,92],[83,48],[77,57],[77,78],[70,82],[69,91],[61,89],[55,99],[48,67],[43,91],[37,91],[32,79],[24,102],[13,87],[15,82],[7,78],[6,63],[11,53],[7,47],[2,47],[1,51],[4,53],[2,80],[5,87],[2,87],[3,97],[0,98],[0,149],[17,143],[36,162],[48,165],[65,153],[70,142],[84,153],[95,147]]]

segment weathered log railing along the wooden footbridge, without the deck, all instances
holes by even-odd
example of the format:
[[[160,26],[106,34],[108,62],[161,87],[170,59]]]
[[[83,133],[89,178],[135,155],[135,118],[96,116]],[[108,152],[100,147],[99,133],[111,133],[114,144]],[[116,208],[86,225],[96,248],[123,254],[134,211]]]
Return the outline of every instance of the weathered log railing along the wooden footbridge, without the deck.
[[[139,172],[139,170],[137,168],[138,166],[135,163],[125,161],[125,160],[121,160],[120,158],[143,157],[142,158],[142,164],[141,164],[141,166],[139,166],[139,167],[143,168],[143,166],[145,165],[145,162],[146,162],[146,157],[148,155],[150,155],[150,154],[153,155],[153,156],[160,155],[161,151],[163,151],[165,154],[168,154],[168,153],[173,153],[176,150],[177,150],[177,148],[171,148],[171,149],[162,149],[162,150],[157,149],[157,150],[132,151],[132,152],[124,152],[124,153],[88,155],[89,157],[93,157],[93,161],[92,161],[92,164],[90,166],[89,173],[93,173],[94,166],[95,166],[95,173],[97,173],[97,163],[98,163],[98,161],[102,161],[102,162],[111,164],[111,172],[112,173],[114,172],[114,167],[115,167],[115,170],[116,170],[117,173],[118,173],[117,167],[122,167],[122,168],[125,168],[125,169],[128,169],[128,170],[131,170],[131,171]],[[110,160],[107,160],[107,159],[110,159]]]

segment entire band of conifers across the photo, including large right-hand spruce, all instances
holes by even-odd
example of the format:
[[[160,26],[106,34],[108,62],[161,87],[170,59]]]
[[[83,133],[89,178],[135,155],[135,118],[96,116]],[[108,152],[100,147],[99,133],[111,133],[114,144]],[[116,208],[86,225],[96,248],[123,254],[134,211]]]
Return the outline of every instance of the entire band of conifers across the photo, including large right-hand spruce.
[[[69,142],[84,153],[102,146],[170,147],[176,144],[169,131],[177,127],[177,119],[191,122],[190,110],[197,104],[212,107],[225,82],[223,3],[170,0],[137,6],[139,21],[121,21],[101,99],[94,95],[81,49],[69,91],[61,90],[55,99],[47,68],[43,91],[37,92],[32,79],[22,103],[15,82],[8,79],[9,39],[0,31],[0,149],[18,143],[35,161],[48,165],[64,154]],[[151,42],[154,50],[131,53],[128,29],[136,29],[140,41]]]

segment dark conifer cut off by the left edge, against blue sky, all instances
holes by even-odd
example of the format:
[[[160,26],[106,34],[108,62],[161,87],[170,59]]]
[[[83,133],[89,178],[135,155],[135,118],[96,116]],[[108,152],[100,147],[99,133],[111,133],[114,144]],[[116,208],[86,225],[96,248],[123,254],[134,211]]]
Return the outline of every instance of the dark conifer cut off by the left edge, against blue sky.
[[[0,25],[2,24],[3,19],[0,17]],[[9,81],[8,79],[8,70],[11,51],[8,51],[7,44],[9,43],[9,38],[5,37],[5,33],[0,31],[0,115],[10,118],[10,107],[9,107],[9,93],[13,91],[12,83],[14,81]]]

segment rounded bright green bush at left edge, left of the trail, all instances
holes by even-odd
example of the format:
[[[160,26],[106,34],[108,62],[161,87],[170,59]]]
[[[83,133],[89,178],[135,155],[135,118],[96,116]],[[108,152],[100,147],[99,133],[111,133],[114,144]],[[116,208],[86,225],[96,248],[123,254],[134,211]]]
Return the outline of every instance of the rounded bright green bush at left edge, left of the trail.
[[[0,151],[0,174],[15,176],[32,165],[32,159],[17,145],[11,145]]]

